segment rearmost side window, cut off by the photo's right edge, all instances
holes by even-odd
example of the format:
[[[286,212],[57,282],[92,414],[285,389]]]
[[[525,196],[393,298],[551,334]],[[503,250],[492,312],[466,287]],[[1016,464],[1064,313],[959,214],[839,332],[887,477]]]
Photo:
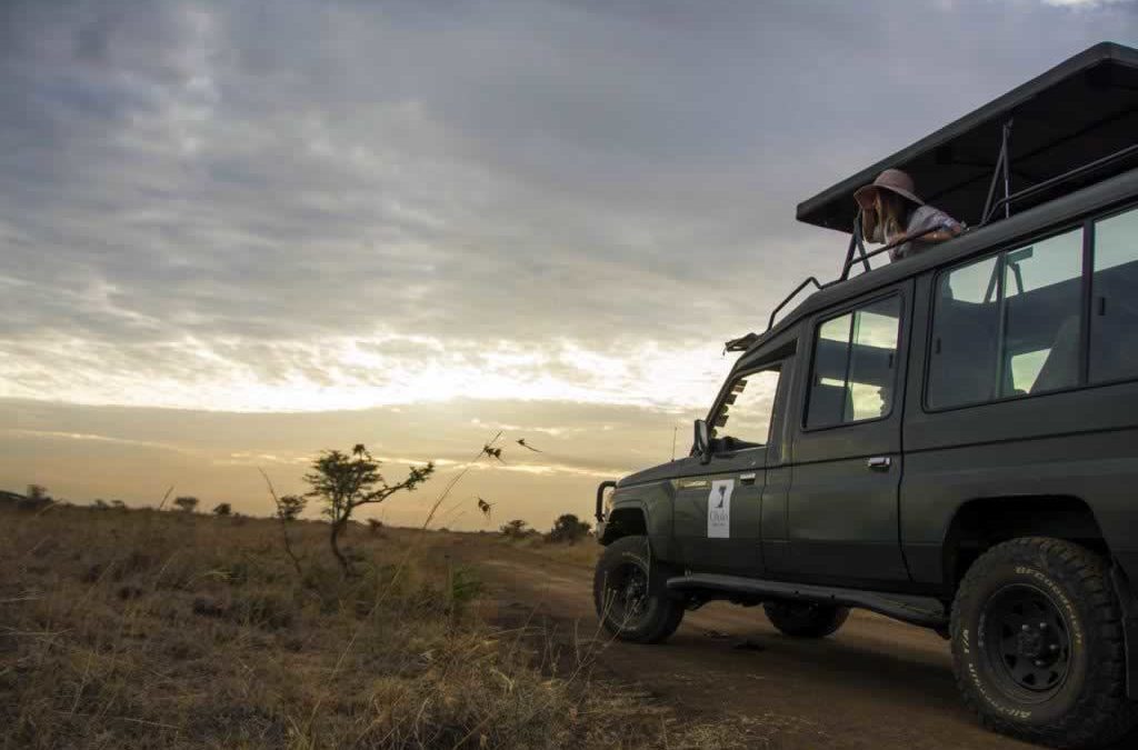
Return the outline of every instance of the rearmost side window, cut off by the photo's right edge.
[[[1090,381],[1138,377],[1138,209],[1095,222]]]

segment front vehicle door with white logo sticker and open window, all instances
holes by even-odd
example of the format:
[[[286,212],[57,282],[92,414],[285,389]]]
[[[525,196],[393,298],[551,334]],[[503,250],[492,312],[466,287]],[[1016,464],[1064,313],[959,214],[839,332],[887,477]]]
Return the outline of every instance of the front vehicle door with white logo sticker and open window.
[[[674,535],[685,567],[762,572],[761,496],[782,364],[735,373],[710,413],[711,454],[676,480]]]

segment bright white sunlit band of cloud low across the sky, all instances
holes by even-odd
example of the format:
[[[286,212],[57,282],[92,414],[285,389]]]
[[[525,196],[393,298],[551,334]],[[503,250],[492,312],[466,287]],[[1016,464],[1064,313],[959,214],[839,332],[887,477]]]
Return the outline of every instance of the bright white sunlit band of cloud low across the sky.
[[[686,409],[731,365],[721,345],[584,349],[568,340],[328,337],[312,341],[16,340],[0,397],[212,411],[333,411],[452,398],[578,401]],[[538,427],[534,431],[551,431]]]

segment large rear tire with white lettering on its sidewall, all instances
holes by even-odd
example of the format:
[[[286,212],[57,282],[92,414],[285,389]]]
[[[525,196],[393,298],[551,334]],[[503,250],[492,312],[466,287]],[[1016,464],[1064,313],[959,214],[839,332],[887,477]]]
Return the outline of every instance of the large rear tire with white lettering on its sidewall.
[[[1138,722],[1107,562],[1086,547],[1046,537],[993,546],[960,582],[951,633],[956,683],[990,730],[1097,748]]]

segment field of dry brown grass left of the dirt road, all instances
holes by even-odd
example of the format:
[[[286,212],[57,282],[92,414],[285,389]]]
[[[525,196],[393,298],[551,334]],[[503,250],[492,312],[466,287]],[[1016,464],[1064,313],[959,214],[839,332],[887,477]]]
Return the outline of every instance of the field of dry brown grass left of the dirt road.
[[[429,533],[354,529],[344,580],[292,529],[303,579],[266,519],[0,508],[0,747],[731,747],[480,621]]]

